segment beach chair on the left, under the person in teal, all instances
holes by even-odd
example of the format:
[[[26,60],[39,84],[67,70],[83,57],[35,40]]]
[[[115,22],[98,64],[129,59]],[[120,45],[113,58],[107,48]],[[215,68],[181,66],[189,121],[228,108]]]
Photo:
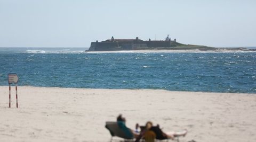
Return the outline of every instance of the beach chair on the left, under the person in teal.
[[[117,122],[106,122],[105,127],[110,132],[110,135],[111,135],[110,141],[112,141],[113,137],[115,137],[115,136],[123,138],[125,141],[133,141],[133,139],[134,139],[133,135],[127,134],[127,131],[125,131],[123,128],[119,127]]]

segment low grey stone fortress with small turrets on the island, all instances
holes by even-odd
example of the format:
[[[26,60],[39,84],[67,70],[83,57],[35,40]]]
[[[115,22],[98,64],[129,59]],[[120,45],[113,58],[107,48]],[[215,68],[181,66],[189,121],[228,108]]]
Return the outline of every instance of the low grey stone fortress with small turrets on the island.
[[[165,40],[141,40],[138,37],[135,39],[111,39],[98,42],[91,42],[91,47],[87,51],[118,51],[118,50],[146,50],[146,49],[155,49],[163,48],[167,49],[170,47],[177,46],[175,43],[176,39],[171,40],[169,34]]]

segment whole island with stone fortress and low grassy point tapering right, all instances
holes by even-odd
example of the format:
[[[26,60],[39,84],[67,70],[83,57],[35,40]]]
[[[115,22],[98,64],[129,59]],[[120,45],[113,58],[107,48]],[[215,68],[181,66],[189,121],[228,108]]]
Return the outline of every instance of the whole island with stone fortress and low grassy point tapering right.
[[[220,50],[227,48],[215,48],[198,45],[185,45],[177,42],[176,39],[171,40],[169,34],[165,40],[141,40],[138,37],[135,39],[107,39],[105,41],[91,42],[89,50],[86,51],[122,51],[122,50]],[[247,48],[228,48],[228,50],[245,50],[251,51]]]

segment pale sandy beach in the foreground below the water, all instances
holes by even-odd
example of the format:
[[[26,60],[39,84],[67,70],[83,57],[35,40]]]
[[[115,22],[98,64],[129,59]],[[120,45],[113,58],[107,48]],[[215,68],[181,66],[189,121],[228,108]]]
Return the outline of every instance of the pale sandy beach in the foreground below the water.
[[[180,141],[256,141],[256,94],[0,86],[0,141],[109,141],[106,121],[150,120]],[[115,138],[118,139],[118,138]]]

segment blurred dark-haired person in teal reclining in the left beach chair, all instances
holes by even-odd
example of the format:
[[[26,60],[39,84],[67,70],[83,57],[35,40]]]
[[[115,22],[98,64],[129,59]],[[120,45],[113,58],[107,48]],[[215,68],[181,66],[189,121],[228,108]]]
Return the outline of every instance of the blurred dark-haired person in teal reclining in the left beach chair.
[[[117,117],[117,125],[119,126],[119,128],[121,128],[127,136],[131,138],[137,138],[139,136],[137,132],[133,131],[130,128],[127,128],[125,122],[125,118],[122,117],[122,114],[119,114],[119,116]]]

